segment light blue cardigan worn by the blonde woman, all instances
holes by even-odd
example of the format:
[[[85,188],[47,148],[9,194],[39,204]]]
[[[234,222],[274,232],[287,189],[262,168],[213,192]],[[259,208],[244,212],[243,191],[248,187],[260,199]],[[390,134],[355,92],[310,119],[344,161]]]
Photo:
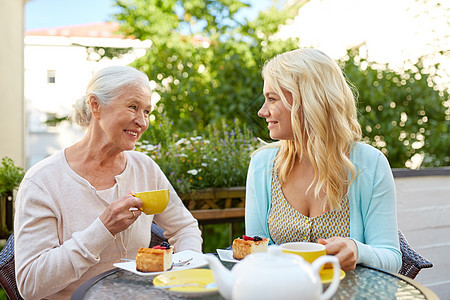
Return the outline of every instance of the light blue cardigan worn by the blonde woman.
[[[261,149],[252,157],[245,200],[246,235],[269,237],[272,168],[278,147]],[[394,178],[386,157],[374,147],[356,143],[350,160],[359,172],[348,192],[350,238],[358,246],[358,261],[397,273],[401,252],[397,233]],[[270,243],[273,240],[270,238]]]

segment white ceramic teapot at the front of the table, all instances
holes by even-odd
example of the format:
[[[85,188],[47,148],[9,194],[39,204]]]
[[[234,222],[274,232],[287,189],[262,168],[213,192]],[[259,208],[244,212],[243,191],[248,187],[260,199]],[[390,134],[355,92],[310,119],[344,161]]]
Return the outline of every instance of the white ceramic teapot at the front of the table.
[[[277,245],[269,246],[268,252],[247,255],[231,271],[214,255],[205,258],[220,294],[227,300],[329,299],[340,283],[336,257],[321,256],[309,264],[301,256],[283,253]],[[319,271],[325,263],[333,265],[333,280],[323,293]]]

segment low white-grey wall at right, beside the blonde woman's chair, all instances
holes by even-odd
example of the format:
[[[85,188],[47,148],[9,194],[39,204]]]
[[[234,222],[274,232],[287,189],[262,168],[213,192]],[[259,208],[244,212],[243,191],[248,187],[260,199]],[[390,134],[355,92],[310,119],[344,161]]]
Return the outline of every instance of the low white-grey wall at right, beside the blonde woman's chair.
[[[440,175],[395,178],[399,228],[409,244],[433,263],[416,281],[450,299],[450,168]],[[394,171],[395,176],[395,171]]]

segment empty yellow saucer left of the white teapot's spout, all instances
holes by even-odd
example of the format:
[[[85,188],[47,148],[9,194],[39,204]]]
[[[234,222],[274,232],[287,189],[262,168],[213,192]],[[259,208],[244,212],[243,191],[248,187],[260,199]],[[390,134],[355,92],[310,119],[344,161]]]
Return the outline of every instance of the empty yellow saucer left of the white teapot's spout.
[[[209,269],[191,269],[176,272],[168,272],[156,276],[153,279],[154,286],[167,286],[176,284],[197,283],[202,286],[173,287],[166,291],[180,296],[198,297],[217,293],[217,287],[205,289],[203,286],[214,282],[214,276]]]

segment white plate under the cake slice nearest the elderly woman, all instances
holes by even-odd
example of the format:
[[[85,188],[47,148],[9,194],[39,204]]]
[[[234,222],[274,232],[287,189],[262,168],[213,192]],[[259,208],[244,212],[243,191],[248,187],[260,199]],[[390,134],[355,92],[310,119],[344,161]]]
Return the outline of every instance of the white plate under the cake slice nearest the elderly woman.
[[[192,250],[185,250],[178,253],[174,253],[172,256],[173,263],[177,263],[186,259],[189,259],[192,257],[192,260],[185,265],[181,267],[173,267],[172,269],[165,271],[165,272],[140,272],[136,270],[136,262],[135,261],[127,261],[127,262],[121,262],[121,263],[115,263],[113,264],[114,267],[121,268],[127,271],[130,271],[137,275],[142,276],[155,276],[166,272],[173,272],[173,271],[179,271],[179,270],[186,270],[186,269],[194,269],[194,268],[201,268],[208,264],[208,261],[204,258],[204,254],[195,252]]]

